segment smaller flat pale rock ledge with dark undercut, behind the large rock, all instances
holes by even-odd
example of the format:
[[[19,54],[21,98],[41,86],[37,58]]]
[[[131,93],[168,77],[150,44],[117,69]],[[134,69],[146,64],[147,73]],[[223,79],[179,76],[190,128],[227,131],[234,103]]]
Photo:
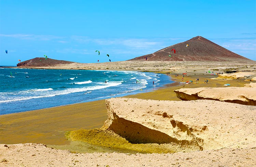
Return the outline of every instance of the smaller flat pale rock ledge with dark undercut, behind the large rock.
[[[252,87],[183,88],[174,92],[182,100],[208,99],[256,106],[256,89]]]

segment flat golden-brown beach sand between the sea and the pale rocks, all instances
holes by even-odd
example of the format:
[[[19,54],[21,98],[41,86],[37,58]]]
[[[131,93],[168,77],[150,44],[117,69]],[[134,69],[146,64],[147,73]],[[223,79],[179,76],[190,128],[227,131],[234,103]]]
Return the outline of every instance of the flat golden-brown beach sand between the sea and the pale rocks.
[[[182,76],[174,77],[173,74],[171,76],[174,81],[177,81],[176,83],[153,90],[152,92],[139,93],[126,97],[153,100],[180,100],[176,97],[176,93],[173,90],[180,88],[224,87],[223,85],[227,83],[226,80],[210,79],[209,77],[216,77],[213,75],[207,76],[208,78],[205,75],[191,75],[189,77],[185,76],[184,81],[193,80],[195,82],[196,78],[199,78],[199,82],[193,84],[177,84],[182,81]],[[208,84],[203,82],[204,79],[209,80]],[[234,87],[243,87],[245,83],[249,82],[242,79],[228,81]],[[67,149],[69,148],[70,141],[66,138],[65,133],[79,129],[93,130],[100,128],[106,119],[105,100],[0,115],[0,143],[42,143],[55,145],[56,147],[61,147],[62,145],[64,147],[61,149]],[[97,137],[95,140],[97,140]],[[76,148],[73,151],[76,151]]]

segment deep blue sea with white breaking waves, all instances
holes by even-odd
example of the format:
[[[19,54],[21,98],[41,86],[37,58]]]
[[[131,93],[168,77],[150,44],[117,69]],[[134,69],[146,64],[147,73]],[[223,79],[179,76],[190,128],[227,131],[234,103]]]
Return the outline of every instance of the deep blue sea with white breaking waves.
[[[17,68],[0,68],[0,80],[0,115],[148,92],[173,82],[150,72]]]

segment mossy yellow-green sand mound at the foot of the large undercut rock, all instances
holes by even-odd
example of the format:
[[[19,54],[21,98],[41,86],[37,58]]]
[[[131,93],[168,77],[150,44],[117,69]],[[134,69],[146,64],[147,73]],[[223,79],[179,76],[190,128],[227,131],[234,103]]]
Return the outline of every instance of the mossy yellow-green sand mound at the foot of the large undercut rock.
[[[123,152],[123,153],[174,153],[175,151],[167,144],[131,144],[125,138],[115,134],[111,130],[74,130],[67,133],[71,141],[80,141],[95,146],[105,151],[100,152]],[[94,152],[98,152],[95,151]]]

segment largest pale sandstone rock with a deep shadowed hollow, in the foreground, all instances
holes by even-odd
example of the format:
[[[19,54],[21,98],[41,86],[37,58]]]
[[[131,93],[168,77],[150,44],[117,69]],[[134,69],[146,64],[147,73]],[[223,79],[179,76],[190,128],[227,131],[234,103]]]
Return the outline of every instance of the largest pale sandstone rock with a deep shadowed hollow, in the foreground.
[[[106,99],[106,108],[108,120],[103,128],[130,143],[169,144],[176,151],[191,151],[256,142],[255,106],[215,100],[111,98]]]

